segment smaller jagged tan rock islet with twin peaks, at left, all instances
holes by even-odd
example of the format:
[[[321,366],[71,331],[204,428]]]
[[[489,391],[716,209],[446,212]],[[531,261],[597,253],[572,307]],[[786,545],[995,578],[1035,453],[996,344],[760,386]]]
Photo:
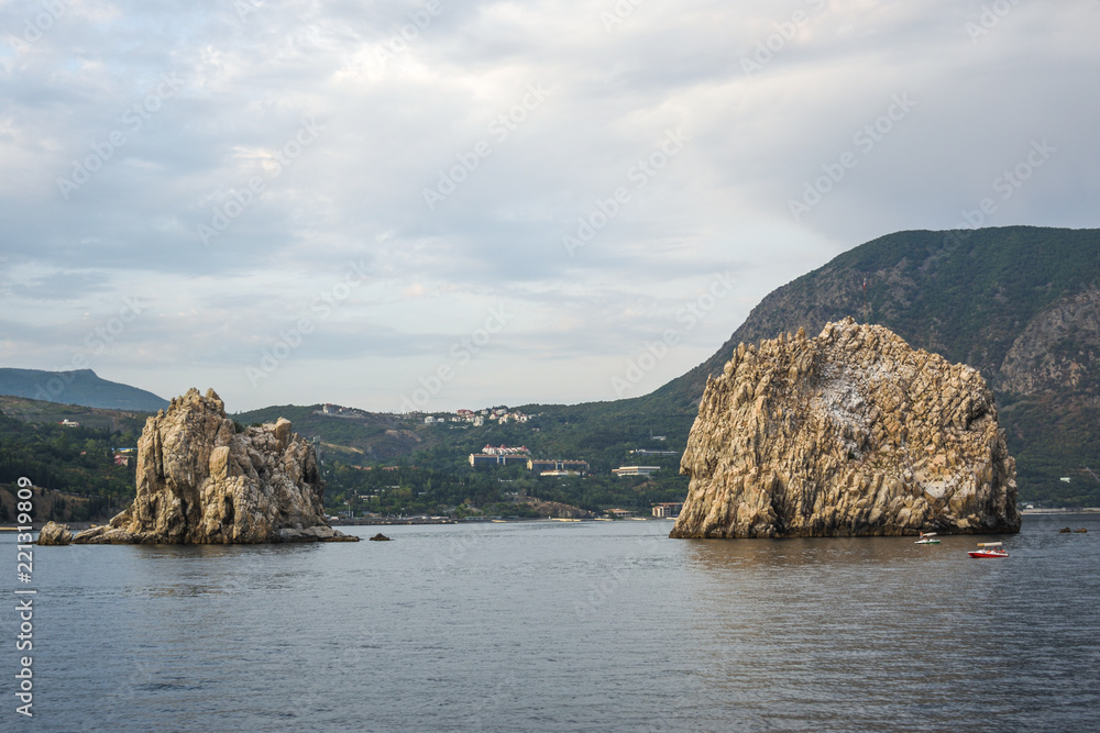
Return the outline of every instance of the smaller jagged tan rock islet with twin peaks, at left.
[[[191,389],[145,422],[138,496],[75,544],[358,541],[324,520],[312,446],[290,421],[237,432],[215,391]]]

